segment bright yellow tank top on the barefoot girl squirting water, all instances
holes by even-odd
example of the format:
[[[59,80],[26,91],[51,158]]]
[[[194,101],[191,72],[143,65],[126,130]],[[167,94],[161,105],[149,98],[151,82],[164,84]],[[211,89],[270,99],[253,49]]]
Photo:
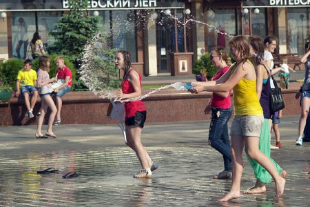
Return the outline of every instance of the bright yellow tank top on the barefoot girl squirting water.
[[[248,60],[249,63],[251,63]],[[241,63],[242,64],[242,63]],[[232,75],[237,65],[231,70]],[[257,97],[256,79],[249,81],[242,78],[233,88],[234,112],[237,116],[254,115],[262,116],[262,107]]]

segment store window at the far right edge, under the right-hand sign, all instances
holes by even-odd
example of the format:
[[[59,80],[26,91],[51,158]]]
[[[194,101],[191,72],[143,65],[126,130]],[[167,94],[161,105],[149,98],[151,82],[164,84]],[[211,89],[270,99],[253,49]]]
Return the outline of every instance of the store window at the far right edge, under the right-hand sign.
[[[304,44],[309,36],[310,8],[287,8],[288,48],[290,53],[304,54]]]

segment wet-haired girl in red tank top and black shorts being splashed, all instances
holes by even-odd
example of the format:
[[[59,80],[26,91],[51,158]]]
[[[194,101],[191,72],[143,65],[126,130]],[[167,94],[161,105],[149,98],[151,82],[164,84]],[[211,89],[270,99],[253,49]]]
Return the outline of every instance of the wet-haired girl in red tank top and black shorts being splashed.
[[[118,50],[115,57],[115,66],[118,70],[124,71],[124,77],[117,96],[119,99],[131,99],[141,96],[141,76],[132,68],[130,52]],[[152,177],[152,171],[158,167],[141,143],[141,133],[146,119],[146,108],[140,101],[125,102],[125,126],[127,146],[132,148],[141,163],[142,170],[138,171],[134,178]]]

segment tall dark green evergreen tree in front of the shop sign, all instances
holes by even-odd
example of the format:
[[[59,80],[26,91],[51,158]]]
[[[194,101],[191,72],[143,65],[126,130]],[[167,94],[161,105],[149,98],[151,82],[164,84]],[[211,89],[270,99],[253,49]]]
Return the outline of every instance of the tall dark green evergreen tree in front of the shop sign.
[[[88,0],[70,0],[68,5],[70,13],[63,14],[50,32],[55,42],[48,51],[68,57],[79,68],[84,46],[101,30],[99,23],[102,18],[87,15]]]

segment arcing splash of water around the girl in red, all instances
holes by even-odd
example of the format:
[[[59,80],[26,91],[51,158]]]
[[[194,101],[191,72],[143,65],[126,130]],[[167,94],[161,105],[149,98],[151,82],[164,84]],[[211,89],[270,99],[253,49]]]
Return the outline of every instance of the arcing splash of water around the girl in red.
[[[161,11],[161,13],[165,13],[164,10]],[[140,27],[140,28],[147,28],[147,18],[145,18],[145,14],[143,12],[138,14],[139,17],[143,17],[145,21],[139,21],[139,23],[135,23],[134,27]],[[146,17],[150,21],[156,21],[156,17],[154,15],[147,14]],[[159,24],[164,24],[165,18],[167,16],[163,15],[163,17],[158,17],[157,21]],[[208,23],[204,23],[203,21],[198,21],[195,19],[187,19],[185,23],[183,22],[183,19],[178,19],[176,16],[169,16],[170,18],[177,21],[179,25],[186,26],[187,23],[198,23],[203,24],[204,26],[207,26],[209,28],[213,28],[218,34],[223,34],[228,37],[234,37],[234,35],[228,34],[227,32],[221,32],[216,26],[209,25]],[[114,26],[116,28],[121,29],[125,32],[132,32],[132,17],[127,17],[127,20],[119,15],[117,15],[114,19]],[[112,34],[117,34],[118,30],[112,30]],[[113,87],[109,86],[107,83],[110,81],[119,81],[120,79],[117,77],[117,74],[107,74],[107,72],[104,70],[105,66],[109,64],[114,65],[113,57],[108,57],[108,55],[103,54],[103,50],[107,50],[109,47],[105,45],[102,39],[102,33],[96,34],[96,36],[93,38],[93,40],[85,45],[85,49],[83,51],[83,58],[81,59],[81,79],[85,82],[85,85],[94,92],[95,95],[98,95],[99,97],[103,99],[110,99],[111,101],[121,101],[121,102],[127,102],[127,101],[138,101],[145,99],[146,97],[149,97],[149,95],[154,94],[155,92],[158,92],[159,90],[167,89],[170,87],[176,88],[177,83],[172,83],[167,86],[163,86],[161,88],[156,88],[155,90],[152,90],[151,92],[148,92],[146,95],[142,95],[140,97],[132,98],[132,99],[118,99],[117,97],[117,84]],[[116,50],[115,50],[116,52]],[[115,54],[115,53],[114,53]],[[111,65],[110,65],[111,66]]]

